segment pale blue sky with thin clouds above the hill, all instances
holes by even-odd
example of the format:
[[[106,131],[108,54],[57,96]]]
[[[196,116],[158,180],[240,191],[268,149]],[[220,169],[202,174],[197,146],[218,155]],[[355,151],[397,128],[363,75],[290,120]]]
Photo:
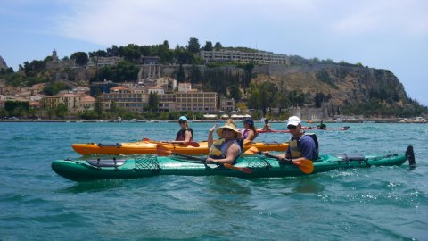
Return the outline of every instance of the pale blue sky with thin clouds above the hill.
[[[0,0],[0,56],[19,64],[189,37],[392,71],[428,105],[425,0]]]

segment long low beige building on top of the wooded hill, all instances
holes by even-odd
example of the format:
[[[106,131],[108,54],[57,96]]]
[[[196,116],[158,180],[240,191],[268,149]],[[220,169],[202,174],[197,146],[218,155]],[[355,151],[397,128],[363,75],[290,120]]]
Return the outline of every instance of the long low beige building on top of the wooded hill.
[[[290,58],[285,54],[270,54],[266,52],[243,52],[236,50],[222,49],[219,51],[200,52],[201,58],[205,62],[256,62],[258,64],[290,64]]]

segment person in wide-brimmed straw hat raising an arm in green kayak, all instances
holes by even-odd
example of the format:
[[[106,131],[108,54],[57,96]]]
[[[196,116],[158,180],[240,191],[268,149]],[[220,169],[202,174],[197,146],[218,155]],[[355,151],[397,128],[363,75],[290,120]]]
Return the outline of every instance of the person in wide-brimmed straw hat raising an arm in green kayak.
[[[242,153],[242,146],[239,144],[238,139],[242,137],[242,133],[236,129],[234,120],[226,120],[224,126],[217,129],[218,124],[214,125],[208,133],[208,148],[210,154],[207,158],[207,163],[228,163],[234,164],[235,160]],[[217,129],[217,135],[220,137],[214,141],[212,133]]]

